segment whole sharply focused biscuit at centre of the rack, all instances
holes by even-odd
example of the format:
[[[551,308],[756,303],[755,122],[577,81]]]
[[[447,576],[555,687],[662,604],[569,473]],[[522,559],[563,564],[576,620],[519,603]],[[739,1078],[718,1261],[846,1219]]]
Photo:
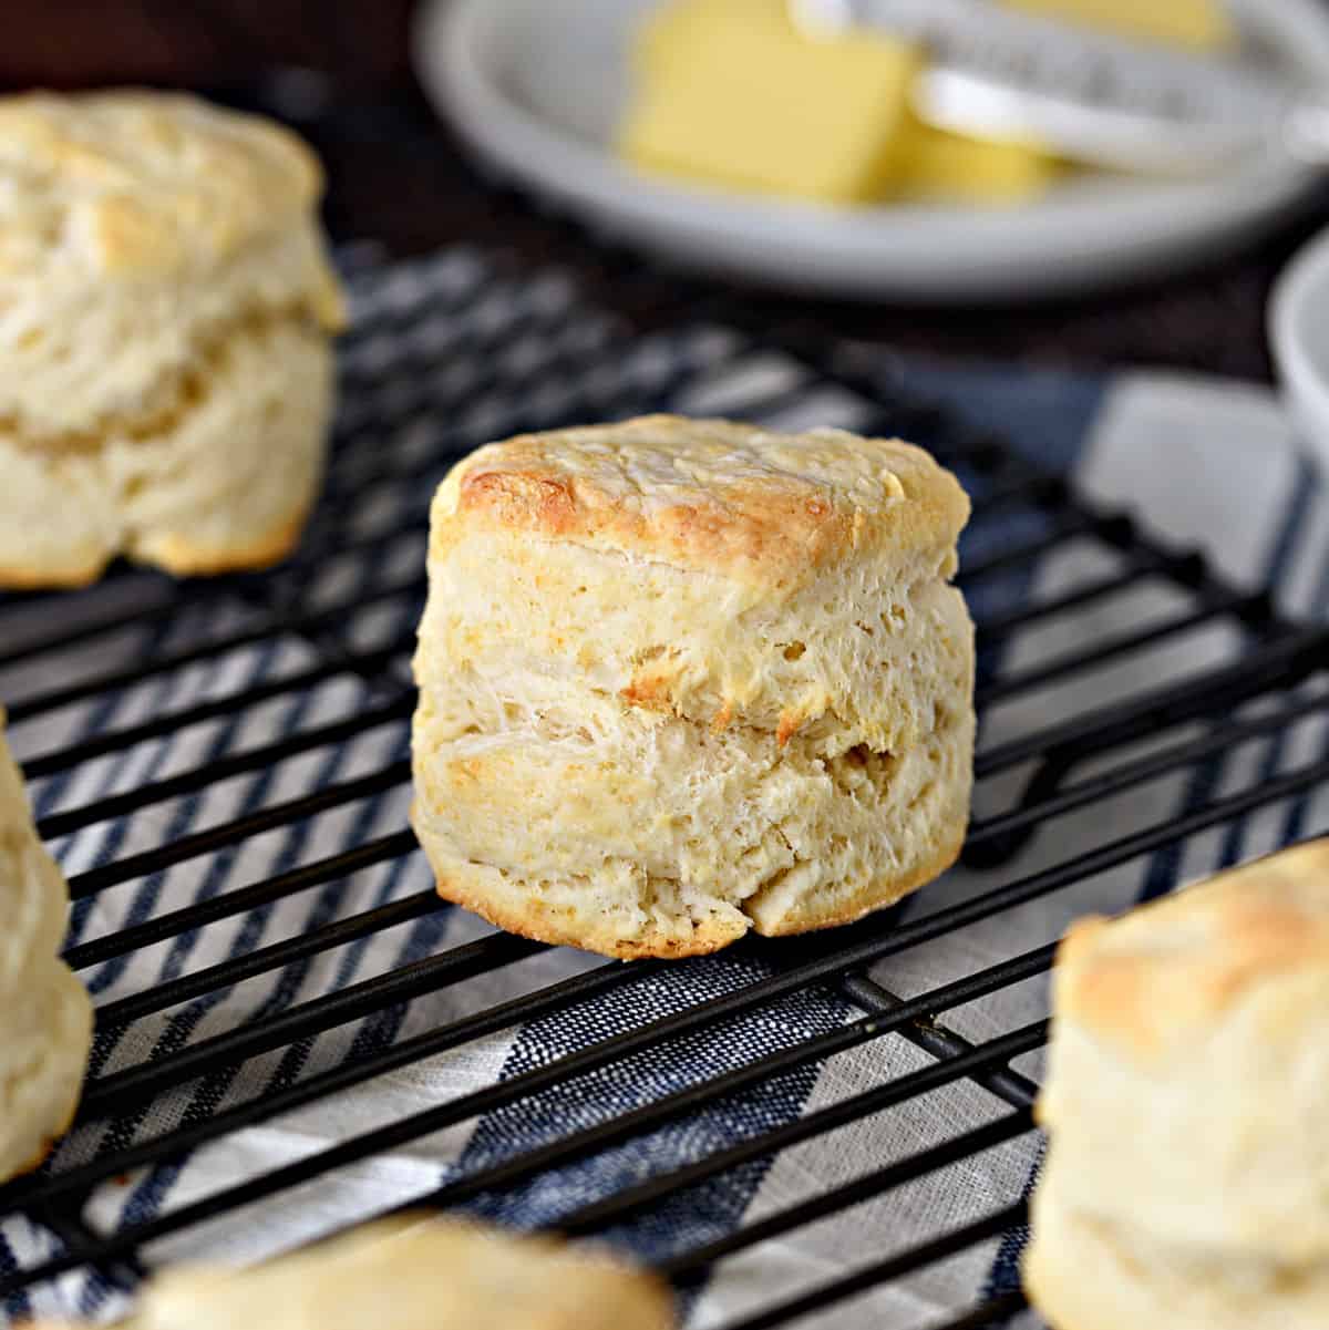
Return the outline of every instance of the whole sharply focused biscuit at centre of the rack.
[[[611,955],[859,918],[955,858],[967,500],[927,454],[655,416],[434,504],[415,826],[450,899]]]

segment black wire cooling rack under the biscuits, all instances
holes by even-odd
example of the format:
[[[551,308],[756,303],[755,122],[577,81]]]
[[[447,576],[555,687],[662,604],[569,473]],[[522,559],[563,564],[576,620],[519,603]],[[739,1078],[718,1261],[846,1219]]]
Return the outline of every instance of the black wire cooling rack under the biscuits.
[[[178,1047],[157,1047],[150,1057],[132,1040],[126,1044],[124,1032],[137,1020],[255,976],[359,947],[444,908],[427,887],[404,892],[388,887],[365,908],[341,915],[334,911],[282,940],[233,948],[226,959],[200,968],[168,970],[148,988],[101,1000],[98,1045],[120,1036],[120,1060],[113,1069],[94,1071],[86,1088],[78,1121],[96,1133],[92,1144],[74,1158],[57,1157],[47,1173],[0,1190],[0,1217],[23,1213],[51,1238],[39,1256],[0,1266],[0,1291],[11,1298],[11,1306],[15,1298],[69,1271],[90,1270],[108,1285],[132,1286],[150,1264],[144,1249],[154,1241],[241,1206],[285,1204],[294,1189],[330,1178],[379,1152],[548,1087],[569,1084],[644,1049],[666,1047],[685,1035],[705,1035],[736,1015],[761,1011],[812,988],[839,995],[857,1016],[722,1073],[698,1071],[659,1100],[589,1125],[573,1124],[537,1148],[408,1200],[451,1208],[502,1193],[572,1160],[631,1145],[661,1124],[722,1099],[754,1095],[772,1077],[887,1039],[910,1041],[923,1061],[903,1075],[883,1069],[879,1084],[865,1092],[758,1130],[686,1166],[645,1176],[584,1206],[560,1226],[575,1234],[600,1233],[656,1208],[677,1205],[680,1198],[685,1204],[689,1189],[726,1170],[769,1160],[869,1116],[890,1115],[941,1087],[968,1080],[988,1093],[991,1113],[978,1127],[943,1129],[935,1144],[790,1208],[718,1236],[708,1230],[685,1241],[660,1265],[681,1289],[694,1286],[721,1262],[758,1244],[778,1241],[1032,1130],[1036,1085],[1012,1063],[1043,1045],[1046,1021],[971,1040],[945,1017],[1042,975],[1051,962],[1052,939],[1031,938],[1023,954],[907,1000],[875,982],[869,975],[873,966],[963,926],[1072,888],[1115,866],[1184,849],[1192,838],[1306,794],[1329,778],[1329,758],[1321,751],[1290,770],[1257,773],[1236,789],[1200,782],[1180,817],[1161,815],[1124,834],[1104,822],[1103,835],[1092,843],[1048,853],[1032,870],[1014,867],[1015,857],[1062,818],[1123,793],[1145,791],[1177,773],[1200,771],[1219,755],[1269,741],[1298,724],[1321,722],[1329,716],[1329,680],[1324,678],[1329,632],[1285,622],[1265,596],[1225,585],[1200,555],[1167,548],[1127,513],[1086,501],[1062,477],[1040,469],[1003,440],[978,435],[931,406],[903,400],[895,388],[853,370],[839,352],[794,343],[777,347],[706,326],[632,339],[616,322],[593,311],[571,317],[573,306],[559,278],[510,274],[483,255],[460,255],[434,269],[418,266],[402,281],[379,281],[375,291],[374,299],[362,305],[343,350],[346,408],[327,493],[294,560],[265,576],[185,585],[118,569],[101,587],[77,596],[0,600],[0,690],[5,690],[16,745],[39,801],[41,833],[67,853],[71,838],[101,834],[82,861],[69,864],[76,920],[81,911],[86,927],[68,959],[85,975],[98,967],[130,966],[141,952],[173,940],[243,928],[245,920],[274,902],[335,890],[351,874],[371,867],[388,871],[412,859],[416,851],[404,821],[386,827],[366,822],[358,830],[353,826],[346,847],[337,854],[279,862],[275,871],[245,879],[241,886],[192,890],[185,903],[154,900],[140,915],[116,915],[106,906],[105,916],[114,918],[116,927],[94,927],[102,902],[120,888],[137,890],[178,866],[194,870],[190,880],[197,886],[218,866],[243,867],[247,847],[274,831],[298,831],[319,818],[359,809],[386,791],[406,789],[410,771],[403,742],[412,705],[408,660],[424,592],[427,503],[446,466],[490,438],[644,411],[713,408],[781,423],[812,411],[817,419],[843,418],[862,430],[901,434],[926,444],[960,473],[975,499],[962,584],[979,620],[979,708],[984,716],[1012,701],[1036,700],[1094,670],[1144,657],[1188,634],[1225,633],[1227,654],[1197,673],[1160,674],[1151,686],[1135,685],[1124,696],[1104,693],[1102,705],[1075,714],[1054,718],[1056,713],[1048,710],[1050,718],[1040,722],[1034,709],[1027,714],[1035,720],[1019,733],[980,743],[976,774],[982,811],[964,862],[986,876],[982,890],[959,903],[929,912],[925,894],[925,907],[903,922],[883,916],[800,942],[744,943],[734,951],[734,963],[760,956],[757,978],[718,994],[698,992],[669,1015],[609,1037],[592,1037],[548,1064],[495,1080],[427,1112],[357,1130],[279,1169],[217,1186],[146,1220],[118,1213],[113,1222],[97,1222],[92,1201],[134,1170],[225,1145],[243,1128],[273,1123],[517,1023],[557,1020],[591,999],[631,992],[659,967],[588,963],[553,983],[537,979],[515,998],[496,1004],[480,1000],[448,1023],[383,1037],[335,1065],[275,1079],[259,1099],[218,1096],[208,1112],[146,1133],[142,1123],[149,1109],[181,1085],[216,1077],[249,1059],[283,1056],[350,1023],[399,1011],[422,995],[475,984],[483,992],[486,976],[506,967],[532,966],[545,948],[486,934],[306,1001],[275,1003],[235,1028]],[[455,329],[448,315],[459,310],[468,311],[462,343],[450,340]],[[395,371],[384,376],[390,362]],[[612,370],[607,372],[607,367]],[[1012,517],[1019,521],[1012,523]],[[1002,539],[984,545],[984,531],[998,528]],[[1011,531],[1020,535],[1011,537]],[[1054,597],[1031,600],[1028,571],[1071,547],[1102,556],[1102,571]],[[1048,625],[1078,621],[1075,616],[1145,584],[1171,597],[1173,608],[1164,617],[1108,638],[1087,628],[1074,649],[1032,661],[1027,652],[1012,649]],[[243,653],[254,650],[285,664],[257,676],[246,673],[247,666],[237,668],[220,684],[214,680],[206,693],[186,690],[184,702],[161,701],[150,693],[128,718],[116,710],[117,700],[138,697],[154,681],[180,678],[233,657],[249,660]],[[19,692],[13,692],[15,680],[23,681]],[[334,684],[345,693],[331,713],[314,708],[310,724],[287,726],[275,738],[265,728],[273,706],[302,706]],[[178,769],[128,770],[134,755],[154,743],[170,743],[206,726],[221,726],[233,737],[251,726],[257,741],[237,741],[221,750],[190,747],[196,755]],[[29,735],[39,733],[45,746],[35,750]],[[326,778],[290,797],[275,785],[263,799],[214,809],[201,830],[176,817],[177,807],[196,807],[229,781],[317,762],[333,746],[370,734],[388,737],[375,750],[376,765],[350,774],[325,773]],[[108,763],[128,763],[118,783],[110,786],[94,779],[110,769]],[[400,803],[394,807],[399,810]],[[121,835],[117,829],[125,826],[137,829],[137,835]],[[729,960],[717,958],[708,964]],[[865,1234],[851,1274],[781,1294],[746,1314],[733,1330],[796,1323],[810,1311],[990,1242],[1018,1228],[1023,1213],[1022,1197],[1011,1194],[995,1210],[975,1213],[959,1226],[886,1256]],[[995,1323],[1020,1305],[1019,1293],[998,1291],[978,1306],[953,1309],[946,1325],[959,1330]]]

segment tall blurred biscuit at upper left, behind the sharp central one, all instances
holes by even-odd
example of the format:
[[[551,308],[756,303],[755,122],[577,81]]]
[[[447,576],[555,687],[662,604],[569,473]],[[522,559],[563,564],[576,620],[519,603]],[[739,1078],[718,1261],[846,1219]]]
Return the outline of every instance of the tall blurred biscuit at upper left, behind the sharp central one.
[[[343,322],[321,188],[294,136],[196,98],[0,98],[0,585],[290,548]]]

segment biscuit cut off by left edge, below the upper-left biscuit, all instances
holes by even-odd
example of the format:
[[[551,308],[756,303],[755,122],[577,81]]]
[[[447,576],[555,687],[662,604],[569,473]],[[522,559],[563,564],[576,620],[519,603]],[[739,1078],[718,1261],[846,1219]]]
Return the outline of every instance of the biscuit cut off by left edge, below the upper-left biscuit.
[[[32,826],[0,712],[0,1180],[36,1168],[78,1104],[92,1003],[59,959],[69,892]]]

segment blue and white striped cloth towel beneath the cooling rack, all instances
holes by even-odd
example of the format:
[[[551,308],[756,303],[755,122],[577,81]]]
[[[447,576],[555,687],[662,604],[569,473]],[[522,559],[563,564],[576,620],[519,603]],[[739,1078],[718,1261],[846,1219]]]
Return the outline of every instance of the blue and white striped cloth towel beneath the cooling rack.
[[[500,436],[525,427],[532,418],[568,411],[591,416],[599,400],[620,400],[625,384],[639,387],[643,400],[655,400],[680,371],[690,375],[705,370],[710,359],[732,346],[724,332],[656,335],[625,343],[613,321],[585,309],[561,278],[500,278],[474,253],[448,253],[396,267],[367,266],[355,279],[355,313],[358,334],[346,351],[347,395],[339,447],[349,468],[350,492],[361,497],[347,508],[326,512],[321,521],[325,527],[341,524],[337,531],[347,539],[374,533],[384,539],[374,547],[375,555],[369,561],[339,559],[334,548],[326,560],[311,565],[295,588],[302,608],[317,608],[337,597],[358,597],[361,592],[369,601],[375,588],[418,576],[418,536],[403,535],[400,543],[394,543],[392,527],[402,521],[402,504],[415,504],[411,511],[418,516],[428,497],[427,487],[415,481],[408,493],[394,493],[390,485],[375,487],[380,456],[436,455],[442,467],[446,450],[455,446],[459,435]],[[529,387],[517,399],[503,390],[502,379],[494,379],[495,340],[502,343],[506,368],[529,378]],[[569,375],[559,359],[577,352],[584,360],[584,352],[596,347],[603,348],[603,356],[580,376]],[[1274,587],[1289,612],[1298,616],[1329,612],[1329,491],[1298,460],[1284,411],[1269,391],[1159,374],[1071,376],[1002,366],[960,368],[897,362],[862,351],[846,354],[885,380],[898,376],[915,394],[943,402],[983,428],[1018,440],[1042,463],[1070,475],[1086,493],[1111,507],[1129,508],[1173,543],[1203,547],[1233,581],[1252,588]],[[790,372],[788,364],[766,359],[741,372],[726,371],[718,380],[708,382],[702,392],[685,395],[677,404],[698,411],[720,410],[741,402],[752,391],[754,376],[778,384]],[[486,387],[491,379],[492,388]],[[794,395],[785,400],[782,419],[853,426],[859,414],[861,404],[843,395],[810,400]],[[1000,524],[975,531],[967,555],[974,557],[983,543],[1000,548],[1003,541],[1015,539],[1020,539],[1019,533]],[[1058,545],[1031,579],[1006,585],[1003,595],[1054,596],[1111,569],[1113,557],[1091,544]],[[130,580],[126,585],[129,596],[157,593],[152,591],[157,584],[146,575],[141,583]],[[108,589],[92,595],[110,593]],[[1177,592],[1141,581],[1128,596],[1095,601],[1080,613],[1056,616],[1020,633],[1010,645],[1003,666],[1007,672],[1019,670],[1086,641],[1107,640],[1167,614],[1177,602]],[[400,638],[410,632],[415,605],[410,597],[400,602],[388,597],[351,616],[354,622],[338,625],[339,641],[370,649]],[[41,628],[47,630],[49,617],[57,612],[51,601],[0,608],[7,625],[20,636],[39,618],[47,621]],[[169,656],[201,634],[223,628],[243,630],[259,618],[261,610],[239,593],[201,593],[197,605],[166,620],[165,626],[133,628],[98,641],[92,660],[85,650],[76,649],[0,672],[0,697],[21,701],[116,664]],[[1018,694],[988,709],[983,743],[1000,742],[1058,716],[1153,686],[1160,678],[1203,669],[1225,658],[1233,649],[1233,629],[1221,625],[1184,634],[1145,654],[1106,662],[1103,669],[1088,674],[1076,673],[1066,686]],[[201,721],[166,738],[92,757],[35,781],[40,815],[49,818],[81,809],[201,766],[216,769],[230,754],[283,735],[335,726],[374,705],[366,682],[350,670],[334,672],[311,688],[283,692],[275,686],[311,669],[318,660],[315,646],[306,638],[278,636],[17,724],[15,746],[20,757],[31,759],[153,716],[274,685],[266,701]],[[1326,742],[1329,735],[1322,725],[1308,724],[1284,738],[1248,745],[1231,759],[1211,763],[1199,773],[1183,771],[1117,795],[1090,811],[1060,819],[1023,851],[1016,864],[1000,871],[1007,878],[1034,871],[1099,843],[1106,835],[1197,806],[1215,791],[1248,787],[1272,771],[1322,753]],[[327,742],[313,743],[257,773],[185,790],[128,818],[73,829],[59,837],[56,850],[65,870],[77,875],[330,783],[371,775],[399,763],[406,753],[407,733],[400,716],[384,717],[382,724],[349,741],[338,738],[334,730]],[[979,811],[984,801],[1000,806],[1006,794],[1000,779],[984,782]],[[189,858],[104,890],[76,907],[73,942],[86,943],[190,902],[388,837],[404,826],[407,801],[403,783],[390,785],[311,818],[259,831],[223,846],[220,853]],[[1240,825],[1193,837],[1177,853],[1133,861],[1071,890],[907,950],[882,963],[875,978],[901,996],[925,992],[1051,940],[1086,910],[1120,908],[1179,878],[1196,876],[1220,863],[1274,847],[1298,830],[1325,826],[1329,826],[1329,791],[1294,805],[1274,805]],[[990,874],[955,871],[907,908],[911,918],[922,916],[992,884]],[[106,960],[89,970],[86,978],[98,1003],[113,1001],[428,886],[419,855],[387,858],[314,890]],[[93,1072],[104,1075],[161,1056],[484,931],[464,912],[440,908],[112,1031],[98,1039]],[[254,1057],[239,1069],[178,1087],[134,1119],[80,1129],[59,1152],[57,1166],[201,1120],[387,1041],[597,963],[575,952],[547,951]],[[737,988],[761,971],[760,954],[718,956],[661,970],[608,998],[502,1031],[229,1136],[181,1166],[148,1169],[102,1186],[88,1216],[96,1228],[142,1222],[329,1142],[545,1065],[608,1035],[681,1009],[698,996]],[[982,1040],[1044,1012],[1042,983],[1026,983],[950,1013],[947,1023],[966,1037]],[[706,1032],[639,1053],[317,1184],[282,1193],[274,1202],[164,1238],[145,1254],[153,1262],[205,1254],[258,1258],[330,1226],[407,1201],[478,1166],[647,1104],[701,1076],[834,1029],[855,1013],[846,1001],[826,992],[800,992],[729,1021],[721,1037]],[[536,1182],[475,1209],[519,1225],[552,1222],[624,1185],[793,1121],[925,1061],[925,1055],[905,1040],[881,1039],[762,1083],[757,1091],[591,1160],[543,1174]],[[1036,1073],[1038,1059],[1030,1059],[1024,1069]],[[612,1236],[647,1257],[666,1256],[990,1120],[991,1115],[992,1101],[983,1091],[967,1083],[951,1085],[808,1141],[773,1162],[753,1162],[724,1173]],[[1010,1204],[1024,1192],[1035,1160],[1036,1140],[1026,1136],[726,1261],[693,1301],[690,1323],[728,1323],[911,1241]],[[27,1266],[52,1250],[52,1241],[23,1221],[0,1225],[0,1273],[12,1270],[16,1262]],[[986,1244],[801,1323],[837,1330],[927,1325],[943,1313],[971,1305],[984,1293],[1008,1287],[1015,1252],[1016,1245],[1010,1241],[1004,1246]],[[98,1277],[78,1273],[53,1290],[13,1299],[8,1311],[106,1317],[117,1305],[118,1294]]]

